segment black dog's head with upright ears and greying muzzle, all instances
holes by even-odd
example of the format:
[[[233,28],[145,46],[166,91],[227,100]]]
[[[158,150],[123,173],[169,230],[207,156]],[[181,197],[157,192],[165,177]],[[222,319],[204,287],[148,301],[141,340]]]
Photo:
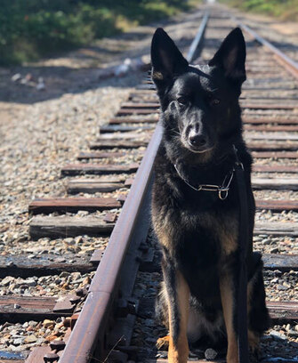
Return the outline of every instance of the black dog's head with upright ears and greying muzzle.
[[[232,30],[213,59],[191,66],[162,28],[152,39],[152,79],[161,103],[165,141],[184,157],[214,155],[221,142],[241,134],[238,98],[246,80],[246,44]],[[207,157],[208,158],[208,157]]]

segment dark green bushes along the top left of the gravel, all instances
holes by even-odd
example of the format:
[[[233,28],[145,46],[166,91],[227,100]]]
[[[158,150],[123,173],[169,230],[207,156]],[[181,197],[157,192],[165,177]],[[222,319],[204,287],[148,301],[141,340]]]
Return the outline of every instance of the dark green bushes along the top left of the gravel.
[[[0,65],[90,44],[189,7],[189,0],[2,0]]]

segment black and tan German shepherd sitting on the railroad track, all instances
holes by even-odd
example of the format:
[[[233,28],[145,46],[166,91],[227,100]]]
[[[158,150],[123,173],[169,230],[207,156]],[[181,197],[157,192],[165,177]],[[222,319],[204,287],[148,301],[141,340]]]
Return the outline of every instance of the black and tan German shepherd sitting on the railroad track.
[[[235,28],[207,65],[192,66],[158,28],[151,61],[163,126],[155,161],[152,222],[163,251],[164,281],[157,311],[169,329],[168,361],[185,363],[189,343],[198,347],[207,342],[205,347],[225,344],[227,362],[238,363],[235,148],[244,166],[248,196],[247,334],[254,351],[269,323],[262,256],[253,253],[252,157],[242,137],[238,103],[246,80],[245,40]]]

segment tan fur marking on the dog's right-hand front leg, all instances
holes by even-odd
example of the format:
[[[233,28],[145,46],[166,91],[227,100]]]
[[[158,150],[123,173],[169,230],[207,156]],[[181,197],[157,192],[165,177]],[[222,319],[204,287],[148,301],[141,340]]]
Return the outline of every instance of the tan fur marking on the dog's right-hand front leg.
[[[234,293],[232,278],[229,274],[225,274],[221,277],[220,288],[223,318],[228,335],[227,363],[238,363],[238,342],[233,326]]]

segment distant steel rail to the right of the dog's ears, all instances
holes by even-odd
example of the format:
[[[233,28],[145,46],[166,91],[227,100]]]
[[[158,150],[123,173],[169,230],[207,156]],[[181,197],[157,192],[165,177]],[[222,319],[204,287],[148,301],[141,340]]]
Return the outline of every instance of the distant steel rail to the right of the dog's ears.
[[[241,23],[238,20],[235,20],[238,23],[238,26],[242,28],[246,33],[250,36],[253,36],[254,40],[258,43],[262,44],[264,47],[269,49],[271,52],[274,53],[275,59],[283,65],[291,74],[298,78],[298,63],[288,57],[284,52],[279,51],[279,49],[271,44],[268,40],[264,39],[258,33],[256,33],[252,28],[249,28],[246,24]]]

